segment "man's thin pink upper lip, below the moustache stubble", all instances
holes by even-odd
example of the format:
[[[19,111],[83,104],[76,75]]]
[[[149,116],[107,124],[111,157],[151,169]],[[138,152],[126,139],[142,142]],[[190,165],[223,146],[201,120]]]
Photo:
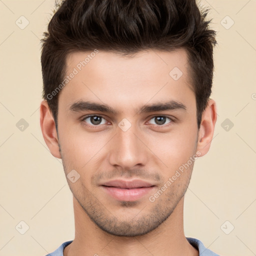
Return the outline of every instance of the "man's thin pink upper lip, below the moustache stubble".
[[[140,180],[140,179],[133,179],[133,180],[122,180],[122,179],[114,179],[107,181],[101,185],[104,186],[115,186],[120,188],[136,188],[136,187],[149,187],[153,186],[153,184]]]

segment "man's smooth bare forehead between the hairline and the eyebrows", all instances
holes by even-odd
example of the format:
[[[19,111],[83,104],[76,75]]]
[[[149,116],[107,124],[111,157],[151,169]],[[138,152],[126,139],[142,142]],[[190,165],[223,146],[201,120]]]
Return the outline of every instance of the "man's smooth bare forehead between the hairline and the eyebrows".
[[[68,82],[59,95],[65,110],[80,99],[104,102],[118,112],[146,102],[175,100],[187,105],[194,101],[184,49],[145,50],[133,56],[101,50],[74,52],[67,56],[66,75]]]

